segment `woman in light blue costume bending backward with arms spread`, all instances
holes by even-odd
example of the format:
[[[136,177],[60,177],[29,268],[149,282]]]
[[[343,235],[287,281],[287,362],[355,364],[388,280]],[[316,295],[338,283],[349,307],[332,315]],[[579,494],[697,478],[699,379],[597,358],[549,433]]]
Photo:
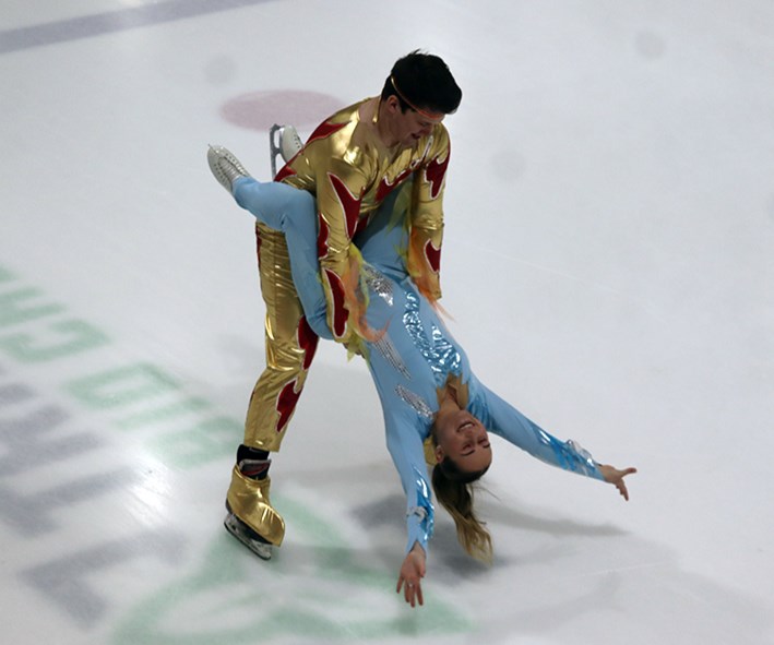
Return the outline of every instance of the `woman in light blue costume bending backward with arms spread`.
[[[237,203],[285,235],[307,322],[319,336],[332,338],[319,278],[313,196],[282,183],[258,182],[226,148],[211,147],[207,157],[215,178]],[[597,463],[572,441],[562,442],[533,423],[476,378],[463,348],[406,271],[408,200],[402,195],[407,190],[394,191],[355,239],[362,270],[348,288],[361,300],[366,320],[359,321],[361,335],[349,349],[368,363],[388,449],[406,494],[408,539],[396,590],[415,607],[424,604],[421,578],[433,529],[428,464],[436,497],[452,515],[461,545],[484,561],[491,560],[491,538],[474,512],[471,485],[491,464],[489,432],[548,464],[610,482],[627,500],[623,478],[636,470]]]

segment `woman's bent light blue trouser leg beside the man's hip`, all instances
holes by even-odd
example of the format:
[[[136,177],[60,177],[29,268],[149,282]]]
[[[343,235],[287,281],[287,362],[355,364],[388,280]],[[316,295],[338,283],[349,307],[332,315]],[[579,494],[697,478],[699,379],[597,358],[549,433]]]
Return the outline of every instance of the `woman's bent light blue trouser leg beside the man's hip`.
[[[314,198],[285,183],[262,183],[245,177],[235,182],[234,199],[255,219],[285,234],[293,283],[307,322],[318,336],[332,339],[325,294],[319,278]]]

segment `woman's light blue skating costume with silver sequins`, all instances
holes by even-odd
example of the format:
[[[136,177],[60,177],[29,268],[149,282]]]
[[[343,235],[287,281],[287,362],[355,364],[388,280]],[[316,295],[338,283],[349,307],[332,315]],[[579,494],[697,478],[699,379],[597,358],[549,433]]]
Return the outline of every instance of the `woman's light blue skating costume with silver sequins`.
[[[467,384],[467,410],[488,431],[547,464],[596,479],[603,476],[587,452],[540,429],[471,371],[463,348],[406,273],[403,259],[408,236],[400,193],[396,190],[388,198],[355,243],[365,261],[361,277],[369,292],[368,324],[383,331],[378,341],[365,343],[366,358],[382,404],[388,449],[406,493],[406,551],[419,542],[427,552],[433,506],[424,442],[439,409],[437,389],[444,386],[450,375],[461,377]],[[260,183],[252,178],[237,180],[234,196],[260,222],[285,234],[293,279],[307,321],[319,336],[332,338],[318,277],[313,196],[283,183]]]

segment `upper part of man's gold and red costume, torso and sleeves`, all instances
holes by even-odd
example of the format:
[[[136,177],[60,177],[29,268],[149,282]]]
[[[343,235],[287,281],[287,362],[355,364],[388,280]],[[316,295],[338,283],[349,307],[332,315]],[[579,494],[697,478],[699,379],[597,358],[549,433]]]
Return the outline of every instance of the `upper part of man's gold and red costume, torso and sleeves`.
[[[369,215],[412,175],[408,268],[431,302],[441,297],[438,272],[449,134],[438,123],[414,147],[391,152],[360,121],[359,109],[366,100],[322,123],[277,175],[277,181],[307,190],[317,199],[318,255],[328,297],[328,323],[337,341],[359,331],[352,315],[357,303],[347,301],[344,295],[352,239],[368,224]]]

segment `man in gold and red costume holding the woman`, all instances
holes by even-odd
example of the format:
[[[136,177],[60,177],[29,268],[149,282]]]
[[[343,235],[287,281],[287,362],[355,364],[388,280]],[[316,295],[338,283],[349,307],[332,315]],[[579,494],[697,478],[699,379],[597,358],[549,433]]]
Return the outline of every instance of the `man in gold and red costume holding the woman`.
[[[353,238],[409,178],[407,266],[428,300],[441,297],[442,198],[450,160],[442,121],[461,99],[462,92],[443,60],[414,51],[395,62],[380,96],[325,120],[275,178],[315,198],[326,329],[331,338],[353,351],[359,351],[362,339],[373,334],[365,322],[366,303],[357,288],[361,259]],[[222,176],[217,155],[209,159],[215,176]],[[266,368],[250,397],[245,439],[227,493],[226,527],[269,559],[271,547],[278,547],[285,535],[285,523],[269,498],[269,455],[279,450],[318,335],[303,315],[283,234],[259,223],[257,238],[266,306]]]

